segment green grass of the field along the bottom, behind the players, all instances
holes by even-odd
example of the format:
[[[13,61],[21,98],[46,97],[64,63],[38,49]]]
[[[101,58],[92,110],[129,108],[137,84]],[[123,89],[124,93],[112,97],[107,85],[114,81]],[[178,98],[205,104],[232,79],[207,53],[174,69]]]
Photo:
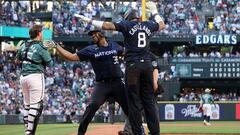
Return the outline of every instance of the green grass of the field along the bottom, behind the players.
[[[212,126],[203,126],[202,122],[161,122],[161,133],[224,133],[239,134],[240,121],[213,121]],[[122,123],[121,123],[122,124]],[[94,130],[90,124],[88,130]],[[105,124],[101,124],[105,125]],[[37,135],[68,135],[77,132],[77,124],[40,124]],[[23,125],[0,125],[0,135],[23,135]]]

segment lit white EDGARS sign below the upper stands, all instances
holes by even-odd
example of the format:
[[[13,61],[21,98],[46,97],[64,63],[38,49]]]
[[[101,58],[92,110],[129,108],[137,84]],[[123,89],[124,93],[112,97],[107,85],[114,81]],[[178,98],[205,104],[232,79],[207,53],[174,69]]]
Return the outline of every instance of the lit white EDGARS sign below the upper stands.
[[[236,35],[197,35],[196,44],[237,44]]]

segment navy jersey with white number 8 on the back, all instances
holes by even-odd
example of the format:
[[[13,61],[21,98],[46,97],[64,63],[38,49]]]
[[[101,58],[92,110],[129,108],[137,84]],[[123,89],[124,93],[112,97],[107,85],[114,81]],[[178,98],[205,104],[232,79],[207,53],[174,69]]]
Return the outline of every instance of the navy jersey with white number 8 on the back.
[[[125,60],[151,60],[149,54],[149,38],[158,31],[159,25],[153,21],[121,21],[114,23],[116,30],[122,32],[126,48]]]

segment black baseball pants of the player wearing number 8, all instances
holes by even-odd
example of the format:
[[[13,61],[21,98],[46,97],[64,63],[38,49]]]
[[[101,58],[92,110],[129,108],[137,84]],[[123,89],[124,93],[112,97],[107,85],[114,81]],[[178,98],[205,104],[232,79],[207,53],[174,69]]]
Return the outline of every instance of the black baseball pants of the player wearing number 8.
[[[142,107],[151,135],[159,135],[158,113],[155,108],[153,73],[150,61],[127,62],[126,87],[129,102],[129,121],[134,135],[142,135]],[[143,87],[144,89],[142,89]]]

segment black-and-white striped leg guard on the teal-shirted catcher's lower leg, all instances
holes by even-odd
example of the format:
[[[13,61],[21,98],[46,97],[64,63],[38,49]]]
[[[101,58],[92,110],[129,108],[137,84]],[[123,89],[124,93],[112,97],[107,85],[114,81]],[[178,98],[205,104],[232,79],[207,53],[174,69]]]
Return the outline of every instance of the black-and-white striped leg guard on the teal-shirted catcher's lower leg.
[[[36,104],[32,104],[30,105],[30,110],[29,110],[29,114],[28,114],[28,129],[27,132],[30,132],[31,135],[35,134],[37,125],[38,125],[38,121],[39,121],[39,117],[42,114],[42,110],[43,110],[43,102],[40,101]]]

